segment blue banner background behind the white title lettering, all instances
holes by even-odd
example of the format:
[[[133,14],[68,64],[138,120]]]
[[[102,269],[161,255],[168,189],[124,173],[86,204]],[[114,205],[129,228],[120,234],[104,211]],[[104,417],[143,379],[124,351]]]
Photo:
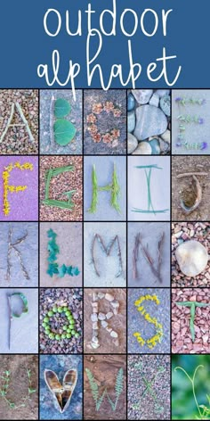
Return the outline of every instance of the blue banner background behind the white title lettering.
[[[77,24],[77,10],[85,10],[88,3],[88,0],[2,0],[0,87],[48,87],[44,78],[38,78],[36,69],[40,63],[51,65],[54,49],[58,49],[61,54],[60,79],[66,79],[69,59],[72,59],[81,65],[76,87],[87,87],[86,13],[82,13],[83,37],[69,37],[65,32],[65,25],[58,37],[48,37],[44,32],[43,19],[48,8],[58,9],[63,17],[69,9],[71,18],[73,13],[76,13],[73,19]],[[97,12],[112,6],[111,0],[92,0],[90,3]],[[171,79],[174,78],[178,65],[182,65],[182,73],[175,87],[208,87],[209,0],[117,0],[117,21],[124,8],[132,8],[139,15],[145,8],[154,9],[156,12],[160,12],[162,8],[174,9],[169,15],[167,37],[163,37],[161,25],[154,37],[145,37],[140,26],[137,34],[132,37],[133,59],[142,65],[141,77],[136,87],[166,87],[163,79],[156,84],[149,82],[145,71],[149,62],[155,62],[156,58],[162,55],[163,46],[166,46],[166,54],[178,57],[174,60],[174,65],[169,66],[172,69]],[[94,15],[93,22],[96,21],[99,21],[98,13]],[[123,64],[125,75],[128,73],[128,38],[120,34],[119,30],[117,33],[117,37],[103,37],[100,62],[106,77],[109,75],[111,64],[117,62]],[[53,87],[58,86],[55,84]],[[101,87],[99,78],[93,78],[92,87]],[[111,87],[121,87],[118,78],[113,79]],[[131,84],[127,87],[131,87]]]

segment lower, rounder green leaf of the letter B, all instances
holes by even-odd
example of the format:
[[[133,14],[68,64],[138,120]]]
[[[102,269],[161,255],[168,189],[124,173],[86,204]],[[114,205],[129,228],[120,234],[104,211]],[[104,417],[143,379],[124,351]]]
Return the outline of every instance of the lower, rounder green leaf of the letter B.
[[[75,126],[68,120],[60,119],[56,120],[53,126],[54,138],[57,144],[65,146],[69,144],[76,135]]]

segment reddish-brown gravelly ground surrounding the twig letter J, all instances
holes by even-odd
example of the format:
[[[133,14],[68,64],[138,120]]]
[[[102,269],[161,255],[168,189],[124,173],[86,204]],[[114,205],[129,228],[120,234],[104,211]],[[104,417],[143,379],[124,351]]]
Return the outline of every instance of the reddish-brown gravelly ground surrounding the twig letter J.
[[[187,215],[183,212],[180,200],[194,203],[196,198],[195,183],[192,177],[177,178],[179,174],[205,172],[197,176],[202,188],[202,199],[198,208]],[[210,219],[210,157],[209,156],[173,156],[172,157],[172,220],[209,220]]]

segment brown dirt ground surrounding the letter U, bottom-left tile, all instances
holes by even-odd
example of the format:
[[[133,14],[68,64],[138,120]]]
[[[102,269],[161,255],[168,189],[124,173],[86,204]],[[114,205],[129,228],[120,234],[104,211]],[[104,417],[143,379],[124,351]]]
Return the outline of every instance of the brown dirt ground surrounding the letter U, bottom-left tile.
[[[11,382],[7,398],[15,405],[20,405],[21,399],[28,394],[27,369],[31,370],[31,387],[36,392],[31,393],[31,399],[26,407],[10,409],[8,403],[0,396],[0,419],[38,419],[38,357],[36,355],[1,355],[0,376],[4,371],[11,371]],[[0,388],[2,379],[0,380]]]

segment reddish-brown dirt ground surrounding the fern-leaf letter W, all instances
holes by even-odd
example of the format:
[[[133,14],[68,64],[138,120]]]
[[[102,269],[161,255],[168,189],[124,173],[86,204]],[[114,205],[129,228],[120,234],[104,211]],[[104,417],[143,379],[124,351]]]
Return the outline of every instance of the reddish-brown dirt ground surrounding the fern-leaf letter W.
[[[84,419],[126,419],[126,357],[125,355],[86,355],[84,357],[84,368],[89,368],[99,386],[101,396],[105,388],[112,401],[116,400],[115,382],[117,371],[123,368],[123,392],[119,396],[117,409],[113,411],[107,396],[101,403],[101,408],[95,409],[90,384],[86,373],[84,374]]]

